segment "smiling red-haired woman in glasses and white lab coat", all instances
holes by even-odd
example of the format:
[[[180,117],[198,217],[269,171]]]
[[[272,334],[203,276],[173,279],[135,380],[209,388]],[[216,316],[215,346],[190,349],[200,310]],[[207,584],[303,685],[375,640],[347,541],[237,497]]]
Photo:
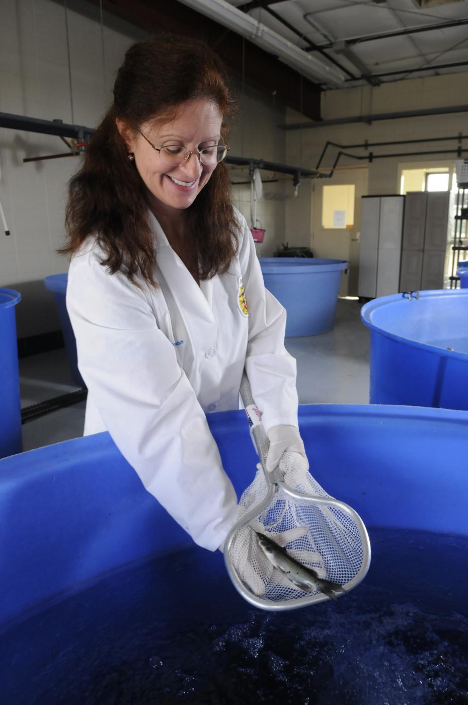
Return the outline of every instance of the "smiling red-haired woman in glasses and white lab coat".
[[[67,208],[67,306],[89,394],[85,434],[109,430],[144,486],[205,548],[238,503],[205,414],[239,408],[242,370],[271,440],[304,455],[285,311],[265,290],[230,204],[233,98],[202,42],[131,47]]]

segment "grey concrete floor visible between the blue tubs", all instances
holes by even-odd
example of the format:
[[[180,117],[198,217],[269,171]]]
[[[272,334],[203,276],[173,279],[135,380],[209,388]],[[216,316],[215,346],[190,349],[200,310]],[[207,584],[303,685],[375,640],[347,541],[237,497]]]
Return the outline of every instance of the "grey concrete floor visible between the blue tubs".
[[[333,331],[308,338],[286,338],[297,360],[301,404],[369,403],[369,329],[362,324],[361,304],[338,299]],[[21,407],[77,391],[65,350],[30,355],[20,360]],[[23,449],[82,436],[85,402],[23,424]]]

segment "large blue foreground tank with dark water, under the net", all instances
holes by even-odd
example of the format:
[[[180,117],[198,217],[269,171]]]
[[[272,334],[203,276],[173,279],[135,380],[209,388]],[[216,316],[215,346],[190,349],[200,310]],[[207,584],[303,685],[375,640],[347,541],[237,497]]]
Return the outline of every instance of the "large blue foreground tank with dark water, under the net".
[[[240,494],[251,482],[256,462],[245,414],[223,412],[208,418],[223,467]],[[268,618],[262,620],[266,613],[258,615],[243,603],[228,583],[225,572],[221,580],[222,556],[218,551],[209,553],[199,549],[195,558],[178,553],[190,545],[190,539],[143,489],[109,434],[66,441],[1,460],[0,670],[3,670],[5,702],[12,705],[17,702],[147,705],[179,701],[231,704],[238,702],[236,692],[242,687],[242,670],[246,678],[257,678],[257,673],[261,678],[261,673],[266,673],[261,692],[265,694],[269,689],[270,699],[260,701],[271,702],[271,688],[274,693],[286,687],[291,693],[298,681],[309,678],[307,673],[311,673],[313,654],[307,651],[307,643],[312,644],[316,654],[317,649],[328,649],[331,653],[333,668],[326,666],[328,681],[344,679],[346,690],[348,681],[349,687],[362,688],[362,680],[367,687],[369,679],[373,679],[381,696],[377,699],[372,692],[367,692],[367,699],[353,696],[355,699],[321,699],[322,702],[409,702],[410,695],[400,692],[396,680],[402,677],[402,687],[405,687],[407,673],[398,663],[395,666],[395,658],[401,656],[393,646],[395,635],[402,632],[410,651],[414,651],[414,639],[419,631],[425,635],[428,627],[426,621],[422,627],[414,626],[412,620],[419,614],[418,608],[409,608],[408,601],[417,600],[421,609],[426,591],[435,589],[436,611],[441,611],[442,602],[449,607],[452,604],[455,611],[460,601],[460,609],[466,607],[468,413],[412,407],[310,405],[300,407],[299,418],[314,476],[330,494],[358,511],[369,529],[371,542],[374,541],[373,551],[375,548],[376,556],[379,551],[382,556],[381,568],[376,567],[373,558],[366,580],[350,596],[337,604],[329,603],[331,611],[326,611],[326,607],[321,609],[322,605],[300,611],[298,623],[292,621],[294,613],[284,613],[278,618],[269,613]],[[386,532],[388,527],[393,532],[402,532],[404,546],[398,544],[395,549],[393,541],[382,542],[378,538],[378,532]],[[445,541],[443,551],[439,547],[437,554],[433,553],[433,536]],[[463,546],[462,554],[457,553],[459,544]],[[138,562],[149,556],[156,556],[156,563],[143,564],[149,568],[143,576],[139,574],[136,588],[135,574],[130,572],[125,578],[125,571],[140,565]],[[174,560],[177,556],[181,559],[174,563],[171,556]],[[421,572],[419,560],[437,566],[435,579],[428,580],[429,576]],[[455,560],[455,564],[450,560]],[[385,615],[378,617],[370,613],[369,616],[366,612],[365,624],[359,623],[358,628],[356,620],[375,599],[376,587],[367,588],[368,581],[373,580],[374,584],[381,585]],[[106,598],[97,604],[92,601],[93,590],[100,584],[116,585],[116,603],[109,609]],[[393,604],[395,585],[400,590],[402,607]],[[223,638],[215,639],[221,617],[214,603],[220,590],[223,605],[236,613],[234,619],[239,618],[242,606],[246,612],[242,613],[243,624],[230,627],[232,621],[228,621],[223,628]],[[353,610],[354,596],[359,599],[359,591],[365,594],[365,601],[357,603]],[[195,602],[194,594],[198,596]],[[142,595],[146,599],[143,609],[140,608]],[[168,596],[173,607],[166,613]],[[54,606],[61,605],[64,611],[54,621]],[[106,611],[105,624],[101,622],[102,611]],[[226,610],[222,620],[225,618],[229,620]],[[327,635],[337,620],[343,623],[338,643],[317,645],[319,623],[324,622],[323,633]],[[371,630],[374,630],[373,625],[379,630],[389,620],[395,625],[391,633],[378,637],[381,640],[374,645],[369,638],[369,625]],[[462,617],[458,614],[453,625],[448,618],[443,621],[442,641],[439,639],[433,647],[436,660],[445,658],[445,651],[442,656],[437,651],[438,645],[445,649],[450,633],[460,620]],[[279,630],[280,653],[298,644],[287,673],[281,663],[288,654],[283,654],[282,658],[272,654],[261,637],[269,624],[276,632]],[[295,625],[288,637],[292,641],[286,648],[282,635],[287,634],[291,624]],[[305,633],[304,625],[308,625]],[[121,641],[113,638],[113,630],[117,628],[121,631]],[[250,632],[247,639],[242,637],[245,630]],[[407,638],[405,630],[410,630]],[[145,635],[149,645],[135,663],[135,649]],[[247,651],[245,655],[242,652],[242,661],[235,667],[239,671],[233,673],[230,659],[233,650],[238,653],[241,648],[240,637],[236,635],[242,637],[242,648]],[[298,642],[300,636],[302,641]],[[376,637],[376,632],[372,631],[370,636]],[[433,632],[431,638],[435,638]],[[359,661],[355,649],[361,648],[363,639],[369,643]],[[221,657],[223,651],[227,654],[226,673],[221,671],[226,680],[219,685],[224,696],[219,699],[206,693],[199,699],[196,696],[203,686],[197,675],[203,663],[197,661],[197,656],[201,653],[202,641],[207,640],[209,658],[215,651],[221,653]],[[348,642],[350,661],[346,666],[342,651],[346,650]],[[122,656],[121,649],[126,645],[130,645],[130,651]],[[381,648],[385,651],[378,661],[380,666],[374,666],[373,659]],[[457,648],[454,646],[455,656]],[[183,657],[179,649],[184,651],[187,663],[183,673],[180,672]],[[272,662],[273,658],[276,661]],[[302,665],[301,658],[305,658]],[[307,661],[308,658],[312,661]],[[440,669],[438,661],[433,666],[431,658],[427,654],[421,656],[414,685],[415,689],[421,688],[421,669],[429,661],[426,668],[427,678],[431,680],[426,684],[429,693],[437,686],[436,675],[440,673],[440,670],[431,670]],[[104,666],[97,659],[104,659]],[[388,670],[388,663],[383,663],[386,661],[390,661],[391,680],[386,685],[390,692],[384,700],[381,682],[383,671]],[[273,663],[274,668],[261,670],[266,668],[265,663]],[[163,666],[164,675],[160,675]],[[135,685],[134,673],[139,668],[143,672],[142,680]],[[411,672],[414,673],[414,669]],[[208,676],[216,679],[216,673]],[[88,679],[88,676],[92,680],[90,689],[75,689],[74,679]],[[275,681],[273,676],[280,680]],[[147,678],[152,678],[152,690],[145,691],[146,697],[143,697]],[[231,692],[233,686],[229,683],[239,678],[235,691]],[[126,690],[130,680],[136,691]],[[180,685],[174,686],[178,681]],[[319,682],[317,687],[322,690],[327,682]],[[312,685],[312,681],[307,680],[307,688]],[[295,693],[294,690],[293,696]],[[188,699],[184,700],[186,696]],[[304,702],[304,697],[288,702]]]

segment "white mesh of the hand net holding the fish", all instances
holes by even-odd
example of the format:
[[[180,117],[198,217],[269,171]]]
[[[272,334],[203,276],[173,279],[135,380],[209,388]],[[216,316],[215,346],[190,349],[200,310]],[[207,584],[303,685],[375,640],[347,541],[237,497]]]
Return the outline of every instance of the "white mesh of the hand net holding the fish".
[[[298,453],[285,453],[280,470],[290,489],[309,496],[330,497],[309,474],[307,462]],[[238,520],[261,504],[268,489],[259,466],[254,481],[240,498]],[[269,505],[248,525],[238,529],[229,548],[231,563],[242,583],[266,601],[300,599],[319,594],[319,590],[302,591],[274,568],[257,545],[250,527],[283,546],[290,556],[312,568],[322,579],[346,586],[362,566],[362,539],[350,515],[332,505],[293,499],[276,486]]]

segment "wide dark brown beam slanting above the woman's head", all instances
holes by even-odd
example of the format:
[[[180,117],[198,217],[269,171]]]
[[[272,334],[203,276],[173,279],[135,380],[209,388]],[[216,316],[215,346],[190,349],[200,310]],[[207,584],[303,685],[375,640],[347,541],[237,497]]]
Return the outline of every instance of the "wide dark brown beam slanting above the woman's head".
[[[87,0],[99,7],[99,0]],[[311,118],[320,119],[320,86],[300,75],[276,56],[260,49],[248,39],[177,0],[102,0],[104,11],[146,32],[173,32],[204,39],[226,63],[235,78],[244,80],[276,102]],[[242,55],[244,56],[242,71]],[[302,84],[302,91],[301,91]]]

